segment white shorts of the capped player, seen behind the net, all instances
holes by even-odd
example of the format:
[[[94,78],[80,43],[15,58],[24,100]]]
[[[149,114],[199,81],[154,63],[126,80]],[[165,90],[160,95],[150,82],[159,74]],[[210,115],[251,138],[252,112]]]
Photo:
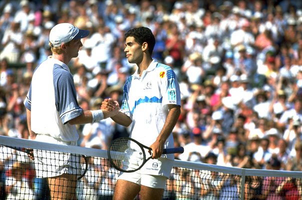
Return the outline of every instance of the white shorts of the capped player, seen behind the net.
[[[36,141],[76,145],[77,141],[63,141],[49,135],[37,134]],[[34,150],[34,164],[37,177],[54,177],[63,173],[80,174],[80,156],[48,150]]]

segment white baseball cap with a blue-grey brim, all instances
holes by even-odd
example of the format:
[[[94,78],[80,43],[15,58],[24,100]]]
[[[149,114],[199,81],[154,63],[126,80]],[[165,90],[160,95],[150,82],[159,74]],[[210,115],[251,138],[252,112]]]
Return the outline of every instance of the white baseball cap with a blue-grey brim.
[[[78,29],[70,23],[59,23],[53,26],[49,33],[49,41],[54,47],[67,43],[72,39],[80,39],[88,36],[89,30]]]

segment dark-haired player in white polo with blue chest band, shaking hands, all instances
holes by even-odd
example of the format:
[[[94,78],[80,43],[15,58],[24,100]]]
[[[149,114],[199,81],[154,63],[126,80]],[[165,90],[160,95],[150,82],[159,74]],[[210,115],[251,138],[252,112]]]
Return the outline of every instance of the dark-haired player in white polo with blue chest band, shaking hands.
[[[174,159],[173,154],[162,155],[162,149],[174,147],[171,131],[180,114],[179,85],[169,66],[152,59],[155,38],[149,28],[132,28],[125,38],[124,52],[137,69],[125,82],[120,110],[111,118],[131,124],[130,137],[150,146],[153,159],[137,171],[121,172],[113,199],[133,199],[138,192],[144,200],[161,199]]]

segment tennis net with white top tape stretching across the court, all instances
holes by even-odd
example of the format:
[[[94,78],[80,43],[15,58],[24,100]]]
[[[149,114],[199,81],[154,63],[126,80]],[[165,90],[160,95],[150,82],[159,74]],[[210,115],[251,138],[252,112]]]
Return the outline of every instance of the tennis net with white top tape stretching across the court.
[[[48,183],[39,173],[51,170],[52,162],[36,168],[24,148],[33,148],[39,156],[51,151],[45,158],[57,159],[54,162],[65,161],[58,160],[60,154],[71,153],[71,170],[78,174],[76,199],[112,198],[119,172],[110,166],[106,150],[0,136],[0,199],[49,199]],[[301,199],[301,180],[299,171],[175,160],[163,199]]]

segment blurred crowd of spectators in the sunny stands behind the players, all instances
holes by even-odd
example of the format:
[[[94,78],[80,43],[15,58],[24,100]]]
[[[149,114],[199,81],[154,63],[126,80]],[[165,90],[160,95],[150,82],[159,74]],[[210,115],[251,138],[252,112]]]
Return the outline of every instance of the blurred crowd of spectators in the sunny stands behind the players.
[[[83,109],[121,101],[136,69],[123,52],[124,32],[147,26],[153,58],[180,85],[177,159],[302,169],[302,1],[1,0],[0,13],[1,135],[28,138],[23,100],[34,68],[51,54],[56,23],[90,30],[69,63]],[[129,132],[110,118],[77,128],[80,146],[102,149]]]

